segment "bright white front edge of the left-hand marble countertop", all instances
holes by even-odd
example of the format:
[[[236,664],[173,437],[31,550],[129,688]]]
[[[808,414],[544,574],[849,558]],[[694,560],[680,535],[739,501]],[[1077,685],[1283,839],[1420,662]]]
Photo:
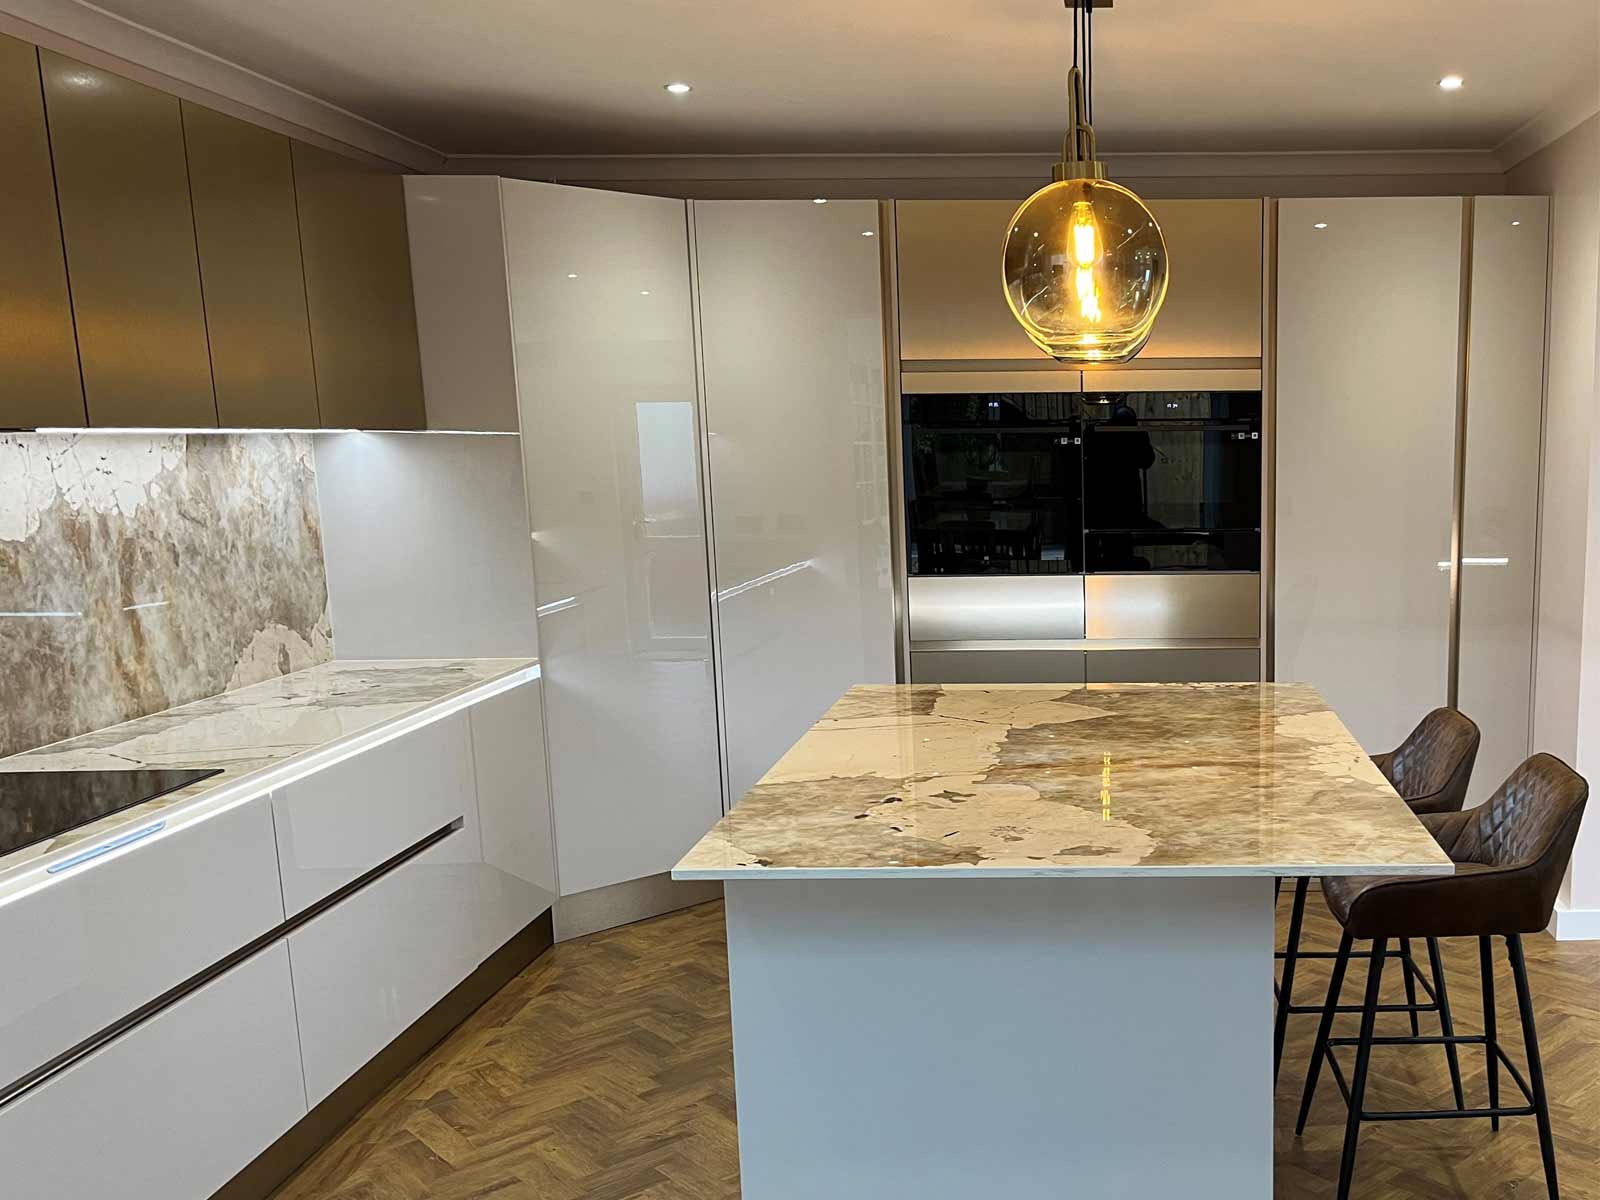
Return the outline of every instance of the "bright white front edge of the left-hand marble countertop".
[[[347,664],[397,661],[400,659],[341,659],[341,662]],[[442,720],[443,717],[472,707],[474,704],[480,704],[502,691],[522,686],[523,683],[531,683],[541,677],[541,662],[538,659],[523,659],[522,666],[510,667],[486,680],[477,680],[464,688],[458,688],[456,691],[440,696],[438,699],[427,701],[410,712],[400,714],[398,717],[390,717],[357,733],[323,742],[312,750],[301,750],[299,754],[293,754],[280,762],[240,774],[238,778],[205,790],[187,802],[160,810],[160,821],[163,822],[162,834],[171,834],[178,829],[195,824],[197,821],[237,808],[238,805],[259,800],[262,795],[267,795],[285,784],[302,779],[307,774],[315,774],[317,771],[333,766],[344,758],[370,750],[376,746],[382,746],[394,738],[419,730],[424,725],[432,725],[435,720]],[[104,840],[112,840],[126,829],[136,827],[152,816],[154,814],[150,813],[141,814],[138,806],[134,806],[128,810],[126,821],[120,821],[104,830]],[[147,842],[141,842],[138,845],[147,845]],[[133,846],[128,846],[128,850],[131,848]],[[27,862],[19,862],[14,867],[0,869],[0,906],[8,901],[19,899],[38,886],[67,878],[69,875],[66,872],[58,877],[50,875],[50,867],[59,866],[61,862],[82,854],[83,850],[85,843],[72,843],[61,846],[59,850],[51,850],[38,858],[29,859]],[[118,853],[126,853],[126,850],[114,851],[101,861],[110,859]]]

